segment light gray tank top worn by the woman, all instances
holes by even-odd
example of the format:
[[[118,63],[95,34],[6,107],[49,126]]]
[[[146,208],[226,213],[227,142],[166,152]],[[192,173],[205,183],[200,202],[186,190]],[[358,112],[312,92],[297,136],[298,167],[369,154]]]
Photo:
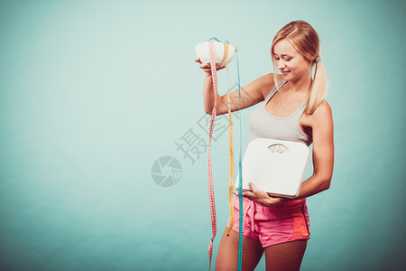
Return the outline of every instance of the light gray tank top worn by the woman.
[[[282,80],[281,86],[287,81]],[[276,93],[277,89],[272,89],[265,100],[257,107],[248,119],[250,129],[250,142],[255,138],[272,138],[277,140],[287,140],[301,142],[311,145],[313,139],[306,135],[300,128],[299,119],[305,109],[305,101],[295,112],[288,117],[274,117],[266,111],[265,105]]]

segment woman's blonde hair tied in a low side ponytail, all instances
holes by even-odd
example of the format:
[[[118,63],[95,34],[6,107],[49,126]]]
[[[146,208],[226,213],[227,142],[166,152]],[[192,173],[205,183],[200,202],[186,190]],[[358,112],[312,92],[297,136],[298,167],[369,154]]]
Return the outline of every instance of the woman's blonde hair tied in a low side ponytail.
[[[328,74],[320,61],[320,42],[318,41],[318,33],[311,27],[309,23],[304,21],[293,21],[286,24],[281,30],[276,33],[272,41],[271,55],[273,66],[273,80],[275,86],[278,85],[278,76],[276,74],[275,59],[273,48],[275,44],[282,39],[286,39],[291,43],[293,48],[298,51],[307,61],[311,62],[311,68],[316,65],[314,71],[314,79],[312,79],[310,92],[306,101],[305,111],[307,114],[313,114],[318,105],[325,99],[328,92]]]

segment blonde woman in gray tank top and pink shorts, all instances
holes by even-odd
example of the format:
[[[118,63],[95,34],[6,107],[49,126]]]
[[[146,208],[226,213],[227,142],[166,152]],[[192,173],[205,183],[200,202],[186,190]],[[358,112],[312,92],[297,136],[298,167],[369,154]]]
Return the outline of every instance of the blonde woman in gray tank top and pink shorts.
[[[241,89],[241,108],[263,101],[249,118],[250,140],[267,137],[313,144],[314,172],[302,182],[295,199],[270,197],[250,183],[252,191],[243,193],[243,269],[254,270],[265,253],[266,270],[300,270],[310,234],[306,198],[327,190],[333,174],[333,117],[325,99],[327,73],[319,58],[318,34],[309,23],[294,21],[282,27],[273,38],[271,54],[273,70],[278,69],[281,74],[263,75]],[[206,72],[203,97],[205,111],[211,114],[214,91],[210,66],[198,58],[195,61]],[[238,100],[238,90],[230,93],[230,99]],[[226,95],[218,95],[217,101],[217,115],[225,114]],[[230,106],[232,111],[239,109],[238,103]],[[234,206],[235,224],[228,237],[228,228],[223,234],[216,270],[237,269],[237,195]]]

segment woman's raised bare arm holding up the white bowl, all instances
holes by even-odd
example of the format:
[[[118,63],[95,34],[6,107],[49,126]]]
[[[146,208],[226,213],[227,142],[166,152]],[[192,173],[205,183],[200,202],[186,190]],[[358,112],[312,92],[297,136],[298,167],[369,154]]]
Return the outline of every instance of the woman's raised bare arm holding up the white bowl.
[[[213,89],[213,76],[211,74],[210,65],[201,64],[198,58],[195,59],[196,62],[200,63],[200,68],[206,71],[206,77],[203,84],[203,101],[205,112],[211,115],[214,106],[214,89]],[[221,70],[224,68],[217,68]],[[268,95],[268,93],[274,88],[274,81],[272,73],[263,75],[258,79],[254,79],[245,88],[241,89],[241,109],[246,107],[252,107],[255,104],[263,101],[263,99]],[[230,92],[230,109],[232,112],[238,110],[239,105],[239,93],[238,89]],[[227,95],[220,96],[217,94],[217,115],[226,114],[228,112],[227,107]]]

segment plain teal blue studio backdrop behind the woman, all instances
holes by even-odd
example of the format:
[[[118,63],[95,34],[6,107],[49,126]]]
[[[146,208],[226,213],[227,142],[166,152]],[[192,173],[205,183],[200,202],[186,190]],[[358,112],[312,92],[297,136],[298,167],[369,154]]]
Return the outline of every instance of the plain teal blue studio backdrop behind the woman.
[[[195,45],[235,44],[245,86],[272,72],[274,34],[301,19],[322,42],[336,147],[330,189],[308,199],[302,270],[399,270],[404,11],[376,0],[2,1],[0,269],[207,270],[207,153],[191,164],[175,145],[189,128],[208,138]],[[218,78],[224,94],[226,70]],[[226,133],[212,145],[214,259],[228,218],[227,148]],[[151,175],[163,155],[183,169],[168,188]]]

